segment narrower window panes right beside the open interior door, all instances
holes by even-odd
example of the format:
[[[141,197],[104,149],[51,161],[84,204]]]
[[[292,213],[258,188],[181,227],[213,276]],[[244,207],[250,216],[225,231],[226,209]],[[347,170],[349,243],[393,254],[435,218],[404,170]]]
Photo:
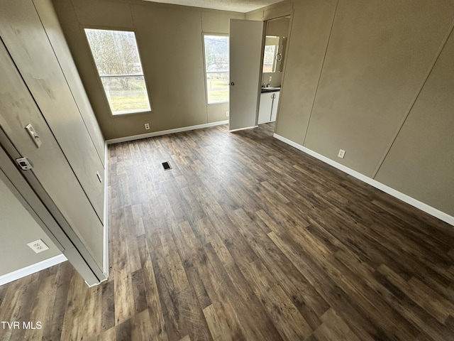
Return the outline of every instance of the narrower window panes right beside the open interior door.
[[[204,35],[206,99],[228,102],[228,36]]]

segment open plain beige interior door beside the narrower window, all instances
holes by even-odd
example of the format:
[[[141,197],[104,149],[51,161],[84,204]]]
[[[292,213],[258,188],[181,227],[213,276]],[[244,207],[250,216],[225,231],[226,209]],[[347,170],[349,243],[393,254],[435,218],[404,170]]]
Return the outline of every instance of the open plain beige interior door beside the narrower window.
[[[262,36],[262,21],[230,19],[230,130],[257,124]]]

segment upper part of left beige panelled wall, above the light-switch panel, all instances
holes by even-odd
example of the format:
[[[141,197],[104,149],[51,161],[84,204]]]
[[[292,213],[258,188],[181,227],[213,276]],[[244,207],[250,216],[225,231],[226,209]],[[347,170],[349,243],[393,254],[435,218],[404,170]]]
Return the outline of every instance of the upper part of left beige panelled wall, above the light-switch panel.
[[[57,36],[59,27],[50,25],[48,18],[55,15],[52,5],[45,7],[45,1],[37,2],[52,36]],[[32,0],[2,2],[0,35],[90,204],[99,220],[104,222],[104,183],[97,175],[102,180],[104,154],[100,156],[96,151],[98,143],[94,143],[87,129],[87,119],[84,120],[74,100],[76,92],[70,89],[70,75],[62,71],[67,70],[64,66],[72,60],[60,61],[55,55],[62,42],[54,40],[55,47],[50,43]]]

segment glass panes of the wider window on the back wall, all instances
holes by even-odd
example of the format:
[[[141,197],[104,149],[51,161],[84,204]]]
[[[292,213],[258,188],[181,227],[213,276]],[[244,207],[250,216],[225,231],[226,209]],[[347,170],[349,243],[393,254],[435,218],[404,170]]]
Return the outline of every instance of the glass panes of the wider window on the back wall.
[[[85,28],[85,34],[112,114],[149,112],[134,32]]]

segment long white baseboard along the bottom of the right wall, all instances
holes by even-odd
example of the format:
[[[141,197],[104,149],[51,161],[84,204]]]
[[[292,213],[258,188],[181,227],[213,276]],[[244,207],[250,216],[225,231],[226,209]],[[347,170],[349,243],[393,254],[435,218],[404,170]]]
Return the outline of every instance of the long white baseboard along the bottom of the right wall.
[[[394,188],[390,188],[389,186],[384,185],[378,182],[377,180],[369,178],[364,174],[361,174],[357,171],[354,171],[351,168],[343,166],[341,163],[337,163],[336,161],[331,160],[331,158],[327,158],[326,156],[316,153],[315,151],[311,151],[311,149],[309,148],[301,146],[300,144],[296,144],[295,142],[290,141],[289,139],[286,139],[283,136],[273,134],[273,137],[275,137],[279,141],[284,142],[285,144],[289,144],[290,146],[297,148],[299,151],[303,151],[304,153],[309,154],[310,156],[314,156],[314,158],[318,158],[320,161],[323,161],[324,163],[328,163],[328,165],[333,166],[334,168],[337,168],[338,170],[343,171],[344,173],[352,175],[353,177],[361,180],[364,183],[367,183],[375,188],[378,188],[379,190],[382,190],[384,193],[392,195],[393,197],[397,197],[397,199],[402,200],[403,202],[406,202],[411,206],[419,208],[419,210],[424,211],[429,215],[433,215],[433,217],[437,217],[439,220],[443,220],[443,222],[447,222],[448,224],[454,226],[454,217],[448,215],[445,212],[442,212],[441,210],[437,210],[436,208],[431,207],[425,204],[424,202],[416,200],[413,197],[410,197],[409,195],[401,193],[398,190],[394,190]]]

